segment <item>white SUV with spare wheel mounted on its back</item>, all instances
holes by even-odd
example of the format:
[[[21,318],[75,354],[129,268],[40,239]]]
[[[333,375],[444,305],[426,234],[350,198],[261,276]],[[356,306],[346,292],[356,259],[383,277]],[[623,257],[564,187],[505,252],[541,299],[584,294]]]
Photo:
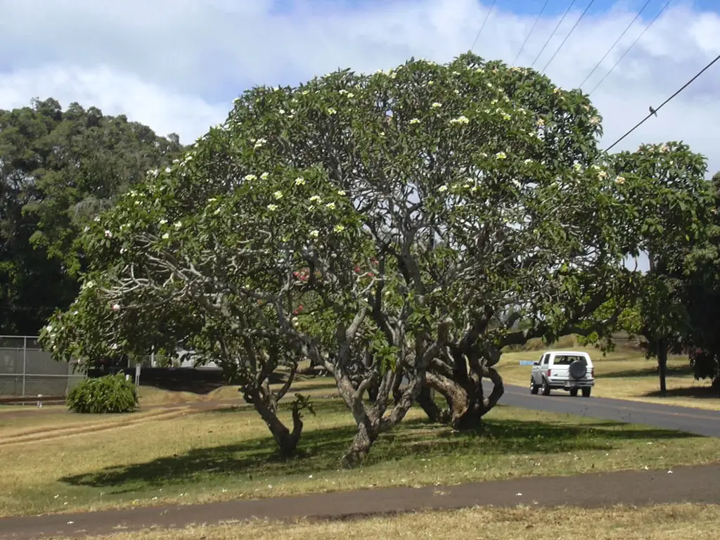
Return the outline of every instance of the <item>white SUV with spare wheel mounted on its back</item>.
[[[590,397],[595,385],[595,367],[590,355],[578,351],[552,351],[536,361],[530,374],[530,393],[550,395],[550,390],[568,390],[576,396]]]

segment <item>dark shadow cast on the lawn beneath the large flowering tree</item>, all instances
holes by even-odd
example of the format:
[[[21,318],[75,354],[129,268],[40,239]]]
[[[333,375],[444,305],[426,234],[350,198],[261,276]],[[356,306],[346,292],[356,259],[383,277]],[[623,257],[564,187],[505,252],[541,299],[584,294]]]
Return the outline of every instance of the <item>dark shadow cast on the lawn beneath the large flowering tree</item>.
[[[229,414],[228,411],[217,413]],[[219,484],[228,478],[235,481],[276,476],[302,478],[338,469],[339,459],[354,433],[354,426],[307,431],[302,436],[300,454],[292,459],[279,458],[274,441],[263,437],[192,449],[186,454],[111,467],[61,481],[74,486],[111,488],[108,492],[117,494],[158,487]],[[408,470],[413,468],[415,460],[443,457],[472,459],[505,454],[606,451],[621,441],[688,436],[617,423],[568,426],[523,420],[486,420],[477,430],[453,432],[427,420],[408,420],[379,438],[364,468],[402,461],[403,469]],[[421,466],[418,464],[418,467]]]

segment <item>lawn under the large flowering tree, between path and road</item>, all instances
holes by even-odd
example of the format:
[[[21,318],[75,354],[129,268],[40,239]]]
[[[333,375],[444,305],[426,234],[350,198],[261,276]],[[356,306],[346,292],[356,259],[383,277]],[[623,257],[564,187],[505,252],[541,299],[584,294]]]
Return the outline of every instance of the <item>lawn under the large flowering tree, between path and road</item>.
[[[351,417],[338,400],[319,400],[317,408],[318,416],[305,418],[303,454],[289,461],[276,458],[266,426],[244,409],[127,415],[138,420],[45,441],[12,443],[6,434],[0,445],[0,516],[720,459],[713,438],[498,407],[474,433],[428,424],[420,410],[411,410],[397,430],[377,441],[362,469],[345,471],[338,459],[354,434]]]

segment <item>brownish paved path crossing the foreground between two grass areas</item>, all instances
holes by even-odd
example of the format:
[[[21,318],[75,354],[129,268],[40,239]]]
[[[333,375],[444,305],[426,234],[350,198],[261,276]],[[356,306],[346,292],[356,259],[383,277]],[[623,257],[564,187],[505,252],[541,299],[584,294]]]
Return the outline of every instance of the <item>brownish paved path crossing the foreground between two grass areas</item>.
[[[174,505],[81,514],[0,519],[0,539],[30,540],[48,536],[82,537],[138,531],[150,526],[178,528],[192,524],[266,518],[289,521],[350,519],[415,510],[452,510],[475,505],[512,507],[720,504],[720,464],[661,471],[531,477],[449,487],[392,487],[381,490],[318,493],[292,498]]]

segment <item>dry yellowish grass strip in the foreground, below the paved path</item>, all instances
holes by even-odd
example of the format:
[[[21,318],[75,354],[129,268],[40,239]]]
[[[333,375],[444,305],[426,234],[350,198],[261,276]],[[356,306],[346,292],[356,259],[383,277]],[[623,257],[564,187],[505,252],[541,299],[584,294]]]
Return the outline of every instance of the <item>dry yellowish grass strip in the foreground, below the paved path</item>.
[[[283,525],[255,521],[103,536],[109,540],[710,540],[717,538],[720,507],[663,505],[582,510],[469,509],[423,512],[351,522]]]

